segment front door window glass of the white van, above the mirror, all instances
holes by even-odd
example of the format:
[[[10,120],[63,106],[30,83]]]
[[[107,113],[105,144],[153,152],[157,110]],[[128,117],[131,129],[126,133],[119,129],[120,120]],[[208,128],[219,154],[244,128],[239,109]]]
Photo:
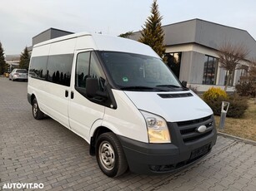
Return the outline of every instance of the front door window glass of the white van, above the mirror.
[[[98,90],[103,91],[105,86],[105,77],[98,63],[98,58],[92,51],[82,52],[78,54],[75,87],[79,89],[86,88],[86,79],[93,77],[98,79]]]

